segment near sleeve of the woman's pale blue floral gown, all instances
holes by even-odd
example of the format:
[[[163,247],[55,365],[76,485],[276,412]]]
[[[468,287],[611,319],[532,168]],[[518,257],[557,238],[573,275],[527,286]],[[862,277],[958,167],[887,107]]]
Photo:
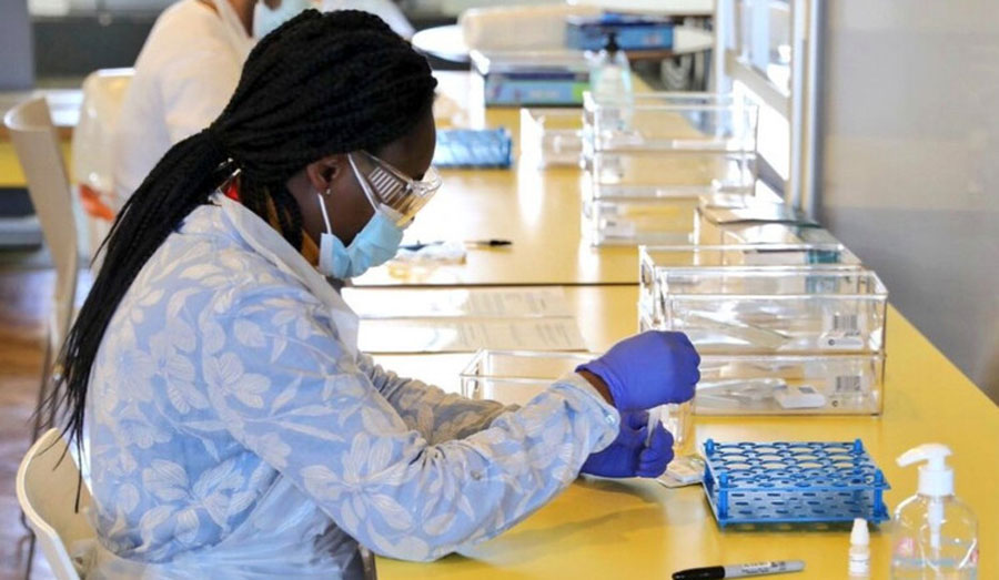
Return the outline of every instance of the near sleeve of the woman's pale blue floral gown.
[[[617,411],[564,380],[486,429],[431,444],[379,393],[311,295],[218,299],[210,312],[221,328],[211,334],[232,338],[203,349],[212,408],[379,554],[428,561],[496,536],[617,435]]]

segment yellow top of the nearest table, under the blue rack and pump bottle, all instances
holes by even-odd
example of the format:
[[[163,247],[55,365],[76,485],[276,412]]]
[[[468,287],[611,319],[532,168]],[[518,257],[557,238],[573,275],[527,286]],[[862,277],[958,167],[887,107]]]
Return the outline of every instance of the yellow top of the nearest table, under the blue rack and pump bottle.
[[[579,288],[581,291],[583,288]],[[634,292],[634,291],[632,291]],[[635,329],[635,302],[625,288],[567,291],[594,348]],[[592,309],[591,309],[592,308]],[[916,489],[915,468],[895,458],[928,441],[953,450],[957,493],[980,520],[979,578],[999,578],[999,499],[992,488],[999,465],[999,408],[895,308],[888,315],[885,414],[880,417],[697,417],[696,439],[852,440],[861,438],[885,470],[891,509]],[[604,322],[601,323],[599,320]],[[606,333],[606,334],[605,334]],[[457,388],[472,355],[386,356],[402,374]],[[654,481],[579,479],[562,496],[502,536],[421,564],[379,559],[379,577],[668,578],[676,570],[758,560],[805,560],[789,578],[845,578],[847,531],[720,531],[700,487],[666,489]],[[871,537],[872,578],[887,578],[889,535]]]

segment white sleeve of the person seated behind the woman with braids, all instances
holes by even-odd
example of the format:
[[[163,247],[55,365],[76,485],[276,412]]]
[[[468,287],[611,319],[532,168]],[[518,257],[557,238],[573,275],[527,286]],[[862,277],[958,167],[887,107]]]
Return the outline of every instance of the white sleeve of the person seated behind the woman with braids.
[[[219,116],[235,92],[242,68],[231,48],[209,40],[162,68],[157,81],[171,144]]]

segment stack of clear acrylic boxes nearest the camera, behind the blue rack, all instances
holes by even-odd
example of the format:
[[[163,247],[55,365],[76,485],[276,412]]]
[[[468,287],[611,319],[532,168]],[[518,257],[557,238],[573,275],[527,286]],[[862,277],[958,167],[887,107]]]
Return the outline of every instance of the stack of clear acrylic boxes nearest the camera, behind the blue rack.
[[[643,246],[639,287],[704,357],[695,413],[880,414],[888,292],[841,244]]]

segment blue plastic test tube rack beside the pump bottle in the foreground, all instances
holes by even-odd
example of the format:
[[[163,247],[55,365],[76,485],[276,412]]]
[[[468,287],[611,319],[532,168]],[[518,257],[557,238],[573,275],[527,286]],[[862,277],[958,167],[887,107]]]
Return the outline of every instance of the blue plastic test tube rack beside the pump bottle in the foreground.
[[[888,519],[891,486],[852,442],[704,444],[704,490],[718,525],[847,522]]]

